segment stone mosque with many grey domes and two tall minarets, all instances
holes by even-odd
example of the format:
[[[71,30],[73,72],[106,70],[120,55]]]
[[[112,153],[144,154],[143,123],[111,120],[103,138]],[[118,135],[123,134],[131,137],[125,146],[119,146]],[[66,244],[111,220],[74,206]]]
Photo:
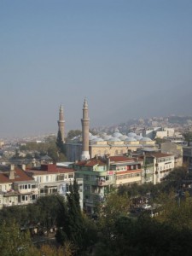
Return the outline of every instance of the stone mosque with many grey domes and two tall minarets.
[[[58,129],[61,131],[61,137],[66,147],[67,160],[69,161],[88,160],[95,156],[104,156],[106,154],[110,156],[129,155],[131,152],[136,151],[137,148],[156,149],[155,141],[148,137],[137,135],[134,132],[123,135],[117,130],[112,135],[106,133],[92,135],[89,132],[90,118],[86,99],[84,99],[83,118],[81,119],[82,135],[73,137],[70,142],[65,142],[64,124],[64,113],[61,107]]]

